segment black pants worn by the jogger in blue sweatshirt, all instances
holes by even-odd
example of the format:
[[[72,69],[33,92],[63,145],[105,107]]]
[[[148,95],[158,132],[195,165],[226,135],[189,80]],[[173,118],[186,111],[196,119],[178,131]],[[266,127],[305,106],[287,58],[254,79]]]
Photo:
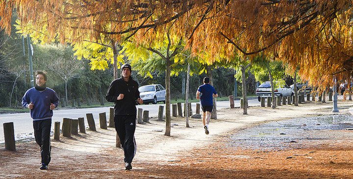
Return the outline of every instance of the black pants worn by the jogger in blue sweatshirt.
[[[34,138],[41,147],[42,163],[48,165],[50,162],[50,129],[51,119],[33,121]]]

